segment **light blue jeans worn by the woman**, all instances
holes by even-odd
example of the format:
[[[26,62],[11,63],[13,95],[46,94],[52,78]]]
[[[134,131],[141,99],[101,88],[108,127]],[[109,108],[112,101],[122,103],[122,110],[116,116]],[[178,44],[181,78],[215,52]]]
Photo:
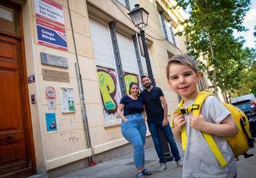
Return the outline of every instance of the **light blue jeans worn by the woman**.
[[[134,146],[134,164],[142,168],[145,164],[144,145],[147,127],[142,114],[125,116],[128,121],[121,123],[121,132],[124,138]]]

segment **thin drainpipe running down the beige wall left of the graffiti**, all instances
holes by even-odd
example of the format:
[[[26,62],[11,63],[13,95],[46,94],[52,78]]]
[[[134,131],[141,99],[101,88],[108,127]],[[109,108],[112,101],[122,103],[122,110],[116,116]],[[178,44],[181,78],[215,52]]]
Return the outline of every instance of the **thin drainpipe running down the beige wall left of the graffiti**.
[[[69,9],[69,19],[70,19],[71,31],[72,31],[72,36],[73,36],[73,41],[74,41],[74,46],[75,46],[75,36],[74,36],[74,30],[73,30],[72,19],[71,19],[71,14],[70,14],[69,0],[67,0],[67,6]],[[82,107],[81,112],[82,112],[83,124],[85,127],[85,137],[87,139],[88,148],[90,148],[92,150],[90,131],[89,131],[89,127],[88,127],[88,118],[87,118],[87,112],[86,112],[86,107],[85,107],[85,97],[83,94],[82,76],[80,73],[79,60],[78,60],[76,46],[75,46],[75,57],[77,59],[77,63],[75,63],[75,73],[77,75],[77,83],[79,86],[79,98],[80,98],[80,103],[81,103],[81,107]],[[93,150],[92,150],[92,156],[89,156],[89,166],[94,166],[95,164],[96,164],[96,162],[93,160]]]

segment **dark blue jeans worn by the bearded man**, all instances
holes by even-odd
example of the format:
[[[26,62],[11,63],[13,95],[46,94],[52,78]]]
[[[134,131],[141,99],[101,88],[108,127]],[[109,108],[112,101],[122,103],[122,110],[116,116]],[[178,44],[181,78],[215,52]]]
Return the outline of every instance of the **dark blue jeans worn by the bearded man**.
[[[181,156],[179,156],[179,150],[177,149],[176,142],[173,139],[173,132],[171,132],[171,127],[170,127],[169,123],[167,126],[164,127],[163,121],[158,121],[155,123],[148,123],[148,129],[151,133],[151,137],[155,144],[156,153],[158,155],[158,158],[160,159],[159,162],[166,163],[166,160],[164,159],[164,155],[163,155],[163,148],[161,146],[158,128],[161,129],[161,131],[164,134],[164,137],[166,138],[167,142],[169,143],[170,148],[171,148],[171,153],[173,155],[174,160],[176,162],[181,160]]]

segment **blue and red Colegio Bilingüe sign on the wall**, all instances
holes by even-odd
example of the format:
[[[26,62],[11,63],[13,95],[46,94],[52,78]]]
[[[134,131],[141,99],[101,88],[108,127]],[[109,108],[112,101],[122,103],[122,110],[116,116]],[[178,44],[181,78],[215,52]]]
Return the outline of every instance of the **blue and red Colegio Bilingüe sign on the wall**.
[[[67,51],[67,36],[64,28],[36,18],[38,43]]]

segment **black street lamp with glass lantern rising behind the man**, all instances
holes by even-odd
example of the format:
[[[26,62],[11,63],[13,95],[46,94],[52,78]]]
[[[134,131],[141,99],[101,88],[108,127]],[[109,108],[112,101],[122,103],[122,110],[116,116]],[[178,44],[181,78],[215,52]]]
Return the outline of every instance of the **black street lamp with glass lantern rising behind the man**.
[[[143,44],[143,51],[145,54],[145,59],[146,59],[146,64],[147,64],[147,69],[148,69],[148,77],[152,81],[152,85],[155,86],[155,81],[153,78],[153,73],[152,73],[152,68],[150,65],[150,58],[148,55],[148,47],[146,43],[146,38],[145,38],[145,27],[148,25],[148,12],[147,10],[143,9],[140,7],[139,4],[135,4],[135,8],[132,9],[132,12],[130,12],[128,15],[130,15],[130,18],[132,18],[132,22],[134,25],[140,29],[140,36],[142,38],[142,44]]]

